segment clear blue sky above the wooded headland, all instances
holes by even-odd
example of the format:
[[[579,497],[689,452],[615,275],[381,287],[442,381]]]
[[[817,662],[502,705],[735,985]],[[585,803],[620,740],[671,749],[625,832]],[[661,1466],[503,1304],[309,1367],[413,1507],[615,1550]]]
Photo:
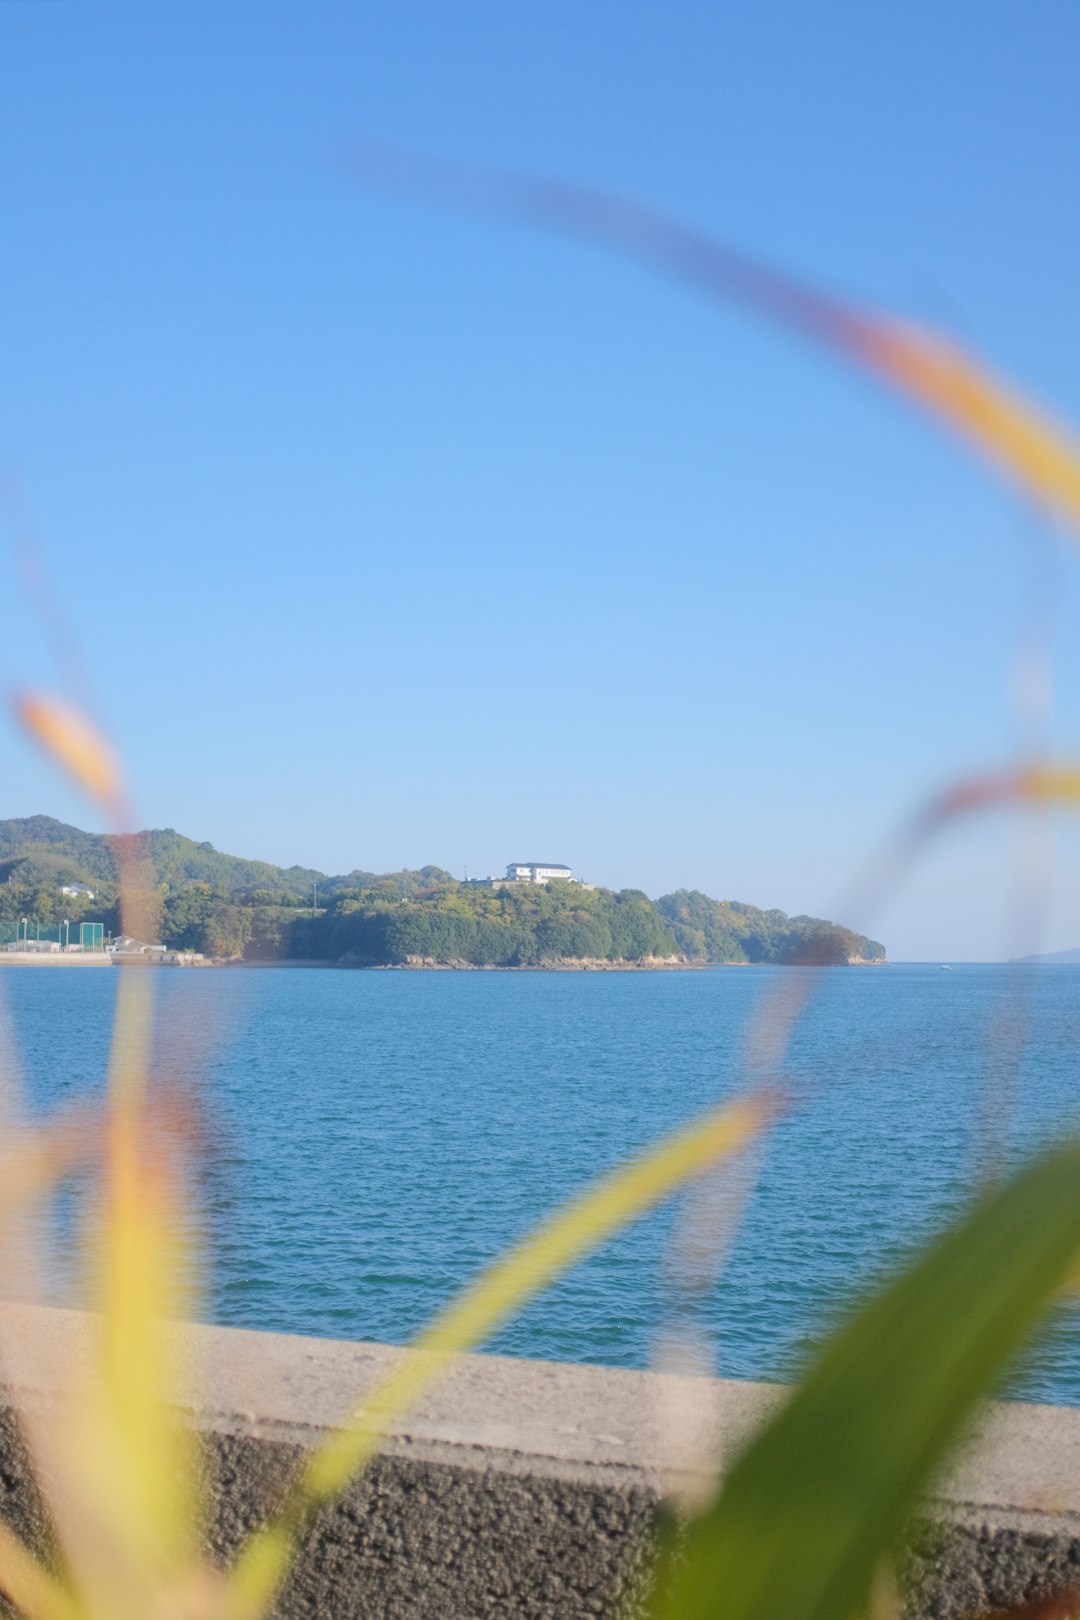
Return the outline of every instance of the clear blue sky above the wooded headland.
[[[338,154],[612,188],[1080,423],[1078,104],[1072,0],[0,5],[0,458],[139,821],[832,914],[1009,757],[1040,614],[1075,752],[1080,556],[981,465],[789,334]],[[0,679],[55,690],[0,564]],[[0,815],[96,825],[10,727],[0,771]],[[1017,834],[844,920],[1027,948]]]

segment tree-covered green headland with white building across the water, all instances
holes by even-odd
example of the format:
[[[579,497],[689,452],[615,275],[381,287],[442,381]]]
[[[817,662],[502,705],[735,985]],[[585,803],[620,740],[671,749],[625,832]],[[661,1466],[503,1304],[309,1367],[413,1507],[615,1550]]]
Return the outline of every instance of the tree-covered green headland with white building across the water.
[[[821,917],[787,917],[677,889],[581,883],[515,863],[460,881],[444,867],[329,876],[223,855],[170,828],[138,834],[159,941],[214,961],[355,967],[643,967],[879,962],[886,949]],[[52,816],[0,821],[0,938],[58,938],[81,922],[120,933],[115,841]],[[159,943],[147,941],[147,943]]]

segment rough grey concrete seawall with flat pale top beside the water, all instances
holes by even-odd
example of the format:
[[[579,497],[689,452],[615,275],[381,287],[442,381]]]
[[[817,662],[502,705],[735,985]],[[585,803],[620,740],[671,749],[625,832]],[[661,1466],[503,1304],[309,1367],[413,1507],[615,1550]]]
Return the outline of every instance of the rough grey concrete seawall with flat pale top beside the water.
[[[0,1516],[44,1545],[11,1398],[49,1414],[92,1322],[0,1307]],[[381,1345],[170,1332],[180,1405],[204,1440],[207,1541],[228,1558],[301,1450],[392,1362]],[[465,1358],[319,1523],[279,1605],[325,1620],[570,1620],[631,1596],[657,1505],[701,1482],[683,1430],[732,1455],[782,1390]],[[910,1612],[972,1615],[1080,1580],[1080,1411],[991,1408],[941,1486],[910,1567]]]

